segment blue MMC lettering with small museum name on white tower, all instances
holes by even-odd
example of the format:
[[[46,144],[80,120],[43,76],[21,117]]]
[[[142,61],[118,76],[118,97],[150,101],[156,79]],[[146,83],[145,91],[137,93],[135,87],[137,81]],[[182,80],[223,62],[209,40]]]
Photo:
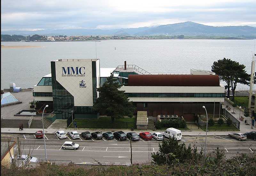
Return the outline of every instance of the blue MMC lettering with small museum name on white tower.
[[[61,67],[62,76],[85,76],[85,67]]]

